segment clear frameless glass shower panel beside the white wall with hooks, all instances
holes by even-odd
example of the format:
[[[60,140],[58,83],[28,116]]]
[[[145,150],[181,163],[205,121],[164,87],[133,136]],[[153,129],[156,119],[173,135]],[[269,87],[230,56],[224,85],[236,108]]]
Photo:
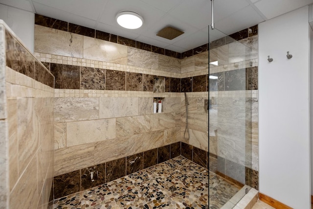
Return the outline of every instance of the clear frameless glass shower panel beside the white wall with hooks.
[[[224,208],[235,206],[251,188],[250,62],[251,48],[209,26],[209,170],[210,180],[212,175],[230,185],[220,191],[229,196],[221,197]]]

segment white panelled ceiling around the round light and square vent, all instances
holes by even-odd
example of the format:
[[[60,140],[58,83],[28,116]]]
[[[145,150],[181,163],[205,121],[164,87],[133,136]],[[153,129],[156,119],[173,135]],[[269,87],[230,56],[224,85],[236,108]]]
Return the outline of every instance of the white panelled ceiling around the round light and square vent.
[[[211,0],[0,0],[0,3],[177,52],[208,43],[208,25],[212,21]],[[225,34],[232,34],[312,3],[313,0],[214,0],[214,24]],[[133,30],[119,26],[115,16],[125,10],[140,14],[143,26]],[[173,40],[156,36],[165,26],[184,34]]]

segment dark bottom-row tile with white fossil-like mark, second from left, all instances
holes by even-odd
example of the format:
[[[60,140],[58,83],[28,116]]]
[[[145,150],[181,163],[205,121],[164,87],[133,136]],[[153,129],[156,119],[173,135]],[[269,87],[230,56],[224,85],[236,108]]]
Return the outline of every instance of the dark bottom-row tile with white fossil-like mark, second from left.
[[[82,191],[106,183],[106,163],[84,168],[81,172]]]

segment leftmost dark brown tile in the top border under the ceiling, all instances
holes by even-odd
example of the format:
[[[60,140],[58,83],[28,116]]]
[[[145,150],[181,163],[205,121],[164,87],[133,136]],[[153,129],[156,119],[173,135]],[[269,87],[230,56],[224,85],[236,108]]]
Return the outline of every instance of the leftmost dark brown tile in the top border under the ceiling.
[[[67,22],[35,14],[35,24],[67,31]]]

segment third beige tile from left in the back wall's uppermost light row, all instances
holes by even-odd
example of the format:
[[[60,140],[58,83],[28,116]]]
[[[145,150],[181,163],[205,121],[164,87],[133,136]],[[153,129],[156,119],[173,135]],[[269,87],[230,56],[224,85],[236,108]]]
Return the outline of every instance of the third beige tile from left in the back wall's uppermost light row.
[[[127,50],[129,66],[158,70],[158,54],[133,47]]]

